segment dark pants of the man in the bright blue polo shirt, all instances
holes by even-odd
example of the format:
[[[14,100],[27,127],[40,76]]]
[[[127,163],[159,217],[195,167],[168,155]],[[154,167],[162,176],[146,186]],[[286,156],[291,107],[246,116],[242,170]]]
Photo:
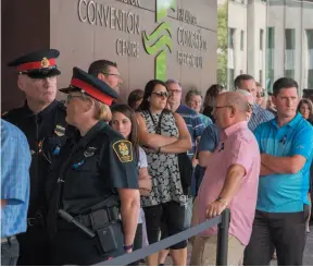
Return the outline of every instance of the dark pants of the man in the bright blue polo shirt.
[[[300,213],[255,211],[250,243],[245,251],[245,266],[270,265],[274,248],[279,266],[302,265],[306,241],[308,205]]]

